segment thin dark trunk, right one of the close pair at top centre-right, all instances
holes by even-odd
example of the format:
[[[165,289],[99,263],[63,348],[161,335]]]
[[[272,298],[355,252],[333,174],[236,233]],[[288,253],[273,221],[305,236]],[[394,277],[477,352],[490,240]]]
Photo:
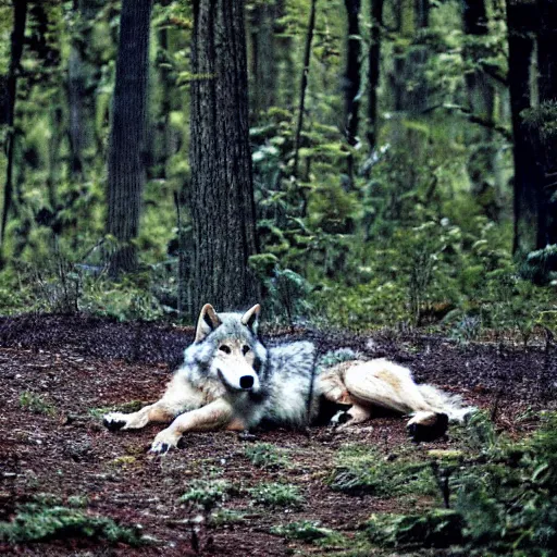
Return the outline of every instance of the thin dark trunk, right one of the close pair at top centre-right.
[[[366,134],[370,152],[377,143],[377,89],[381,72],[381,26],[383,24],[384,0],[370,0],[371,2],[371,32],[370,49],[368,52],[368,132]]]

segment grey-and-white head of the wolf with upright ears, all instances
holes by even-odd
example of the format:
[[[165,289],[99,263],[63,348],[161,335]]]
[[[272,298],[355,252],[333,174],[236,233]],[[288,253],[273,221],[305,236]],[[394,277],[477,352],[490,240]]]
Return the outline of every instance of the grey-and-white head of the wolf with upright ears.
[[[245,313],[216,313],[210,304],[201,309],[196,338],[186,350],[198,368],[218,377],[228,391],[258,393],[267,350],[257,337],[261,306]]]

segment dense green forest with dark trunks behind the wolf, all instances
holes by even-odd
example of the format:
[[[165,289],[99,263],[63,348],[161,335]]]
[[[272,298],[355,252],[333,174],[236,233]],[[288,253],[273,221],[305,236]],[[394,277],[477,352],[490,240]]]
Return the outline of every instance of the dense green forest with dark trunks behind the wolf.
[[[555,333],[557,1],[0,22],[2,313]]]

